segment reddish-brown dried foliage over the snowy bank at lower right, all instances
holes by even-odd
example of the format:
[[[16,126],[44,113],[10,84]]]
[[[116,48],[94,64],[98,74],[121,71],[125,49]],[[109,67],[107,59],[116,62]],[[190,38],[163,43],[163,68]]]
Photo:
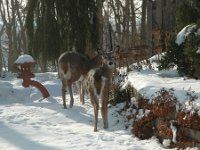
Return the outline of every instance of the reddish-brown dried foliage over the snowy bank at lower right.
[[[195,97],[190,97],[191,102],[196,99]],[[188,134],[188,129],[193,132],[200,131],[200,116],[197,110],[193,113],[184,110],[177,112],[176,105],[179,104],[172,89],[169,91],[165,89],[160,90],[158,96],[152,100],[152,103],[148,99],[140,97],[138,99],[138,109],[148,109],[150,113],[134,122],[132,133],[140,139],[148,139],[155,135],[159,138],[160,142],[164,139],[170,139],[172,141],[173,131],[171,128],[171,120],[173,120],[173,126],[177,128],[177,142],[171,142],[170,148],[200,148],[199,140]]]

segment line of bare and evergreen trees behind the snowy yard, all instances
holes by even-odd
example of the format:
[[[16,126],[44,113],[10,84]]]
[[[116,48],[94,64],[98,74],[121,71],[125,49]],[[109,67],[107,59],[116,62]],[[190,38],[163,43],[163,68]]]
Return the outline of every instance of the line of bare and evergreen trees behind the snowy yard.
[[[91,56],[97,48],[109,51],[117,45],[128,49],[152,44],[149,23],[160,14],[153,12],[155,5],[156,10],[173,8],[174,33],[199,17],[194,12],[199,10],[198,0],[173,2],[175,7],[167,5],[167,0],[1,0],[0,72],[3,68],[13,71],[13,62],[21,53],[31,54],[41,71],[50,71],[64,51]],[[150,55],[152,49],[148,49]]]

